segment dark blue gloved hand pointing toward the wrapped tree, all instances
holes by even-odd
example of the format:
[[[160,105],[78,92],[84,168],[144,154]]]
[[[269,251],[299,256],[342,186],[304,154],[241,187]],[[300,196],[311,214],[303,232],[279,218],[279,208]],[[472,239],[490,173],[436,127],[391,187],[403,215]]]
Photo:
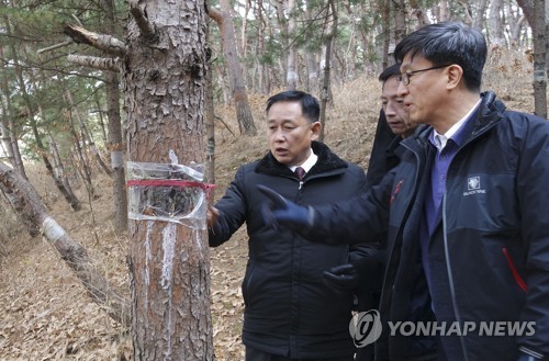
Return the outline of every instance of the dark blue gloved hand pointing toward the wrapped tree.
[[[306,230],[312,227],[312,210],[288,201],[268,187],[258,184],[257,188],[269,200],[261,207],[265,223],[292,230]]]

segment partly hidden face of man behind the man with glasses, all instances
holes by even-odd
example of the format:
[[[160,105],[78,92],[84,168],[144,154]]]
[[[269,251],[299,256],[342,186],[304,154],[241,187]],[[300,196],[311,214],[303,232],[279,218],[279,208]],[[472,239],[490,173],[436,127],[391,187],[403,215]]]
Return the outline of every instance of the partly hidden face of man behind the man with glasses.
[[[400,81],[396,76],[385,80],[381,90],[381,104],[391,131],[405,138],[414,132],[415,126],[410,123],[402,98],[396,94],[399,86]]]

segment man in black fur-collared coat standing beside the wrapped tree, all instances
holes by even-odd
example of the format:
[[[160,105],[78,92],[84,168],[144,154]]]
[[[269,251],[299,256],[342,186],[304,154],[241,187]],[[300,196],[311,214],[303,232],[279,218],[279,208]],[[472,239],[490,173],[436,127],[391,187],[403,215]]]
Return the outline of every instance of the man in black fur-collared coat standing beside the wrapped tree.
[[[285,91],[267,101],[270,151],[239,167],[225,195],[209,210],[210,246],[246,223],[249,259],[243,282],[243,342],[247,361],[351,361],[352,293],[330,287],[323,271],[349,261],[348,245],[312,242],[289,229],[269,227],[256,188],[268,184],[301,205],[321,205],[365,191],[365,171],[323,143],[317,100]],[[304,172],[304,174],[300,174]]]

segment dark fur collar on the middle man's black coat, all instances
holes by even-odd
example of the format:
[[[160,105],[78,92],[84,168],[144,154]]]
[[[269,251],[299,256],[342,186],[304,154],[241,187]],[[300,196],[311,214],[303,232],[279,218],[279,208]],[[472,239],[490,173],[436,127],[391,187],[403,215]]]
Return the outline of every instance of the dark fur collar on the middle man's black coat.
[[[311,168],[307,172],[307,177],[336,169],[345,169],[348,167],[347,162],[336,156],[336,154],[333,153],[324,143],[312,142],[311,148],[313,148],[314,154],[318,156],[318,159],[313,168]],[[279,162],[270,151],[258,161],[256,172],[272,176],[293,176],[290,168]]]

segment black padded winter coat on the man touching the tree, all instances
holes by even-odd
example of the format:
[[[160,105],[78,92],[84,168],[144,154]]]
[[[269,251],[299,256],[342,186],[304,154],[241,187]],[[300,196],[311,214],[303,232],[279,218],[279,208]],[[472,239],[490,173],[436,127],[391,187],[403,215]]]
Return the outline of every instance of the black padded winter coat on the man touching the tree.
[[[365,191],[361,168],[322,143],[313,142],[312,148],[318,160],[302,183],[270,153],[242,166],[215,204],[220,217],[209,233],[210,246],[226,241],[246,222],[249,259],[242,289],[247,347],[291,359],[352,360],[352,294],[327,286],[322,278],[323,271],[348,262],[349,246],[311,242],[266,225],[261,216],[266,199],[256,188],[265,184],[304,205],[328,204]]]

